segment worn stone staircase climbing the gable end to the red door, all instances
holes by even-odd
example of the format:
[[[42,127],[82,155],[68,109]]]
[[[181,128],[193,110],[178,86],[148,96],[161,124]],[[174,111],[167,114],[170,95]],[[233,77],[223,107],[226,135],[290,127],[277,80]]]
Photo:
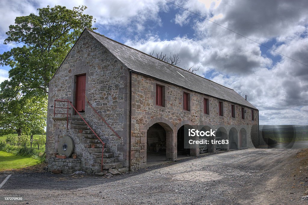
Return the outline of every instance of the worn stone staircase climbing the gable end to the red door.
[[[88,152],[93,156],[94,163],[100,167],[102,161],[103,145],[99,139],[97,139],[90,128],[79,116],[71,117],[71,129],[74,129],[74,132],[78,133],[77,136],[79,137],[80,141],[84,144],[84,147],[87,148]],[[92,146],[94,146],[94,148],[91,148]],[[111,152],[108,145],[105,144],[103,155],[103,172],[105,172],[105,175],[107,175],[107,173],[113,174],[116,173],[114,169],[116,169],[119,173],[124,173],[127,171],[126,168],[123,167],[123,163],[114,156],[114,153]]]

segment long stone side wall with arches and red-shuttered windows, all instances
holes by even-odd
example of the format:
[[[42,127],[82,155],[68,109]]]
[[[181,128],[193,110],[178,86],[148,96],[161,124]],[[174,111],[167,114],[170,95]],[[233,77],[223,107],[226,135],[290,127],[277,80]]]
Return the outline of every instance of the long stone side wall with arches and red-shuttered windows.
[[[164,86],[164,107],[156,106],[156,84]],[[190,111],[183,110],[183,92],[189,93]],[[204,98],[209,99],[209,115],[204,114]],[[224,116],[219,116],[218,102],[223,102]],[[231,118],[231,104],[235,105],[235,118]],[[244,107],[246,113],[245,119],[242,119],[242,107],[244,106],[133,73],[132,168],[146,166],[147,131],[155,123],[159,123],[167,132],[166,158],[169,160],[177,158],[176,136],[183,125],[206,125],[213,130],[223,127],[221,129],[226,131],[227,136],[232,127],[236,129],[237,135],[244,128],[247,133],[247,147],[253,147],[250,133],[252,125],[258,125],[258,111],[254,110],[254,120],[252,120],[251,108]],[[194,150],[193,154],[198,155],[198,151]]]

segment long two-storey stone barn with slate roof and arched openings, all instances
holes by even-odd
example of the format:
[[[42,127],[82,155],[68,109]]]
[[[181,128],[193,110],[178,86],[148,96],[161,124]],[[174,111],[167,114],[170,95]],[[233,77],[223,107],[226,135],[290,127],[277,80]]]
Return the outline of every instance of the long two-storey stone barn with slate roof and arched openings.
[[[258,117],[233,89],[85,29],[49,82],[46,160],[50,171],[117,174],[158,158],[253,147]],[[229,144],[185,149],[184,125]]]

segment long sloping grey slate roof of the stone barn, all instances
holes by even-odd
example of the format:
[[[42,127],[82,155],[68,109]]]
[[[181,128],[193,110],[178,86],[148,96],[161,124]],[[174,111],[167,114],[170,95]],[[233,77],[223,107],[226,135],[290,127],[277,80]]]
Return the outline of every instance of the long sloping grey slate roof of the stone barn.
[[[161,61],[149,54],[126,46],[94,31],[88,31],[95,39],[97,39],[113,55],[115,55],[116,58],[124,63],[128,69],[165,82],[170,82],[188,90],[193,90],[205,95],[210,95],[216,98],[241,104],[246,107],[257,109],[233,89],[227,88],[209,79]]]

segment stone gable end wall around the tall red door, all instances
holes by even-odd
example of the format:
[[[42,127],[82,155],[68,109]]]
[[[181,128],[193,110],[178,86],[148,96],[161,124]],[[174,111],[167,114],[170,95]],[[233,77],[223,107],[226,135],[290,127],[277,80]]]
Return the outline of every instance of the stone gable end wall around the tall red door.
[[[86,103],[86,121],[106,143],[115,157],[128,166],[129,136],[129,72],[123,64],[103,47],[87,30],[83,32],[67,55],[54,77],[49,82],[46,160],[57,152],[59,137],[74,133],[66,130],[63,123],[52,119],[55,99],[68,99],[75,105],[76,76],[86,74],[86,96],[92,106],[120,135],[120,139],[103,123],[99,116]],[[66,103],[58,103],[66,107]],[[66,110],[58,110],[66,112]],[[73,109],[70,114],[75,115]],[[91,163],[91,160],[90,162]]]

